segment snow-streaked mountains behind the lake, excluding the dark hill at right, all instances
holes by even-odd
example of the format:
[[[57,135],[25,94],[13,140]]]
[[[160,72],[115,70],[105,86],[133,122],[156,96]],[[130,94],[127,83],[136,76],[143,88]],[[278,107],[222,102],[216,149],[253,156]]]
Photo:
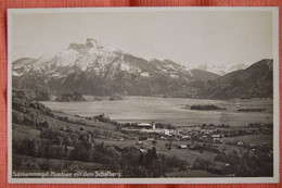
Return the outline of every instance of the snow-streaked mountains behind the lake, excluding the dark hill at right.
[[[271,63],[268,64],[271,67]],[[243,64],[232,67],[213,64],[197,68],[191,66],[171,60],[148,61],[120,50],[111,50],[100,41],[88,38],[85,43],[70,43],[53,55],[22,58],[13,62],[13,76],[21,80],[13,87],[36,86],[47,88],[54,95],[76,90],[98,96],[165,93],[195,97],[206,87],[205,82],[219,78],[213,72],[222,75],[233,68],[244,68]]]

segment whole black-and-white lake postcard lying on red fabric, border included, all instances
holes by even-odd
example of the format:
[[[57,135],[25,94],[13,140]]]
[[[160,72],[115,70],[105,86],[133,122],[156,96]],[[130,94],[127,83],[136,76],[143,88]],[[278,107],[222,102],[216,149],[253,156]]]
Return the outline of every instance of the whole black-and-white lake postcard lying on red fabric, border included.
[[[9,183],[278,183],[278,8],[10,9]]]

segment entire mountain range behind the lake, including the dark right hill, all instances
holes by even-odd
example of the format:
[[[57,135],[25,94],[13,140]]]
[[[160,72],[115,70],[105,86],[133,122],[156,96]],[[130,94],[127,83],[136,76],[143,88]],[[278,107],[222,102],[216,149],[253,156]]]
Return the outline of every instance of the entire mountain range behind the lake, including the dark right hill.
[[[13,88],[37,88],[55,96],[73,91],[217,99],[272,96],[272,60],[220,76],[204,68],[189,70],[171,60],[148,61],[110,50],[92,38],[70,43],[54,55],[18,59],[12,72]]]

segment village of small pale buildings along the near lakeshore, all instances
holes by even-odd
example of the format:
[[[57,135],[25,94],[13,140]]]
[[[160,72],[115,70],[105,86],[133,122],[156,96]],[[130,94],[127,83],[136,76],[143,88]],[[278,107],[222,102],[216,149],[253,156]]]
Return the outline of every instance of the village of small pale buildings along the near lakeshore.
[[[127,125],[127,124],[125,124]],[[247,126],[231,127],[229,125],[202,124],[190,127],[166,127],[161,128],[159,123],[136,123],[131,126],[123,127],[121,131],[130,135],[140,135],[139,140],[169,140],[169,141],[188,141],[188,145],[177,146],[179,149],[193,149],[191,142],[208,143],[227,143],[225,138],[235,138],[240,136],[268,135],[272,133],[271,124],[249,124]],[[232,139],[230,139],[232,140]],[[236,140],[236,139],[234,139]],[[140,142],[139,142],[140,143]],[[255,143],[229,141],[229,145],[239,147],[255,148]]]

